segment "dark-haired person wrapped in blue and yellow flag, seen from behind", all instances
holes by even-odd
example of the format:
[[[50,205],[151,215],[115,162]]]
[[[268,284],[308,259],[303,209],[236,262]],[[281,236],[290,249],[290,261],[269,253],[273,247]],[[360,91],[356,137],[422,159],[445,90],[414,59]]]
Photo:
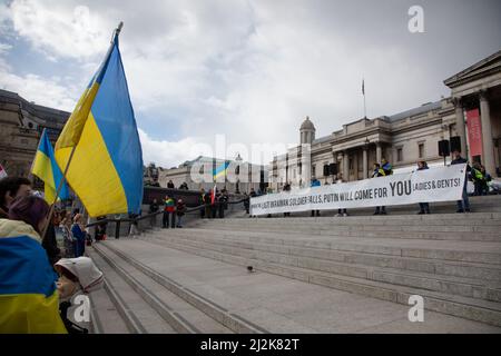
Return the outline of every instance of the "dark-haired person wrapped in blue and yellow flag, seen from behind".
[[[11,201],[0,219],[0,334],[66,334],[57,275],[41,246],[49,205],[39,197]]]

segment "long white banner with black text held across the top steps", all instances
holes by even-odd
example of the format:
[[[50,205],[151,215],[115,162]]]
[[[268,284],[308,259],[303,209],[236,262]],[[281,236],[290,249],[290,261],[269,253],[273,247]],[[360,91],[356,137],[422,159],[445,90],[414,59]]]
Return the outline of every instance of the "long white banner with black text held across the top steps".
[[[466,165],[250,198],[250,215],[461,200]]]

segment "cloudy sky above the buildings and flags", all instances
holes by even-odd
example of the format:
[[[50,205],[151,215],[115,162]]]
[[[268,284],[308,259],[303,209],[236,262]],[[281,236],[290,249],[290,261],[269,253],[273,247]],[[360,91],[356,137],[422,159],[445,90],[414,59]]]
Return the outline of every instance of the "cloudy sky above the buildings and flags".
[[[414,4],[424,33],[407,29]],[[0,0],[0,88],[71,111],[124,21],[145,162],[209,155],[216,135],[256,161],[245,148],[296,144],[306,116],[317,137],[362,118],[362,78],[370,118],[448,96],[445,78],[500,50],[500,13],[498,0]]]

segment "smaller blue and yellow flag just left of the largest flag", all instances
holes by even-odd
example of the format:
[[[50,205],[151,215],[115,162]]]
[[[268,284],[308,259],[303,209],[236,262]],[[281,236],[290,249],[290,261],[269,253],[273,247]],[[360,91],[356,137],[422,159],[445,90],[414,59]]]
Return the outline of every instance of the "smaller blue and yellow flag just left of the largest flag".
[[[31,166],[31,172],[43,180],[45,199],[47,202],[53,204],[56,191],[62,180],[62,172],[53,157],[52,145],[50,144],[46,129],[43,129],[40,142],[38,144],[37,154],[35,155],[35,160]],[[69,198],[69,190],[66,182],[62,182],[59,198],[61,200]]]

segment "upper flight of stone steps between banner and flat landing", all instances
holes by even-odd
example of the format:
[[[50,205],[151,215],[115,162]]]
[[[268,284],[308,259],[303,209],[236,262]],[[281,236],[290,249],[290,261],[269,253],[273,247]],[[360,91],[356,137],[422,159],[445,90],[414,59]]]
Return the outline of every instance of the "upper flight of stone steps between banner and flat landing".
[[[158,244],[501,326],[501,214],[203,220]]]

